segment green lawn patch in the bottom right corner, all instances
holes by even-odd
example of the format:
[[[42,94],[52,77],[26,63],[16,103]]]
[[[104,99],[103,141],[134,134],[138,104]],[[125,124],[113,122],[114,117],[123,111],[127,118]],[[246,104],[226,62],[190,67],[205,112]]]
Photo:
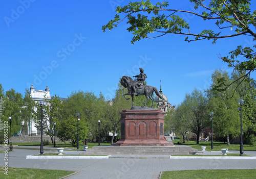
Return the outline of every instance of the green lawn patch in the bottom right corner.
[[[182,171],[164,171],[161,179],[183,179],[183,178],[256,178],[256,169],[245,170],[182,170]]]

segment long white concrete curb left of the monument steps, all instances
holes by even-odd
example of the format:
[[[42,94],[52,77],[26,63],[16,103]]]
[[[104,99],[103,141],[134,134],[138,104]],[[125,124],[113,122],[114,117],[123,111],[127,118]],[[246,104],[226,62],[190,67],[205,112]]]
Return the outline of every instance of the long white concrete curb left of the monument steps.
[[[109,156],[26,156],[26,159],[109,159]]]

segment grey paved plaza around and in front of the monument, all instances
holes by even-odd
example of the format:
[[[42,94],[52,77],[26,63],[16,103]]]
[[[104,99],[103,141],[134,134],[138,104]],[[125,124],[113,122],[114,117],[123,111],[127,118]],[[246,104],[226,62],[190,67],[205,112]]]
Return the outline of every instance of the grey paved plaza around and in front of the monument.
[[[4,148],[1,148],[4,150]],[[56,152],[56,150],[45,150]],[[74,151],[73,154],[76,154]],[[79,151],[78,151],[79,152]],[[77,152],[77,153],[78,153]],[[205,155],[208,155],[206,151]],[[230,151],[239,153],[239,151]],[[256,156],[256,151],[245,151]],[[131,155],[110,159],[25,159],[39,154],[38,150],[16,149],[8,152],[8,167],[38,168],[77,171],[67,178],[158,178],[161,171],[201,169],[256,169],[256,160],[243,159],[154,159],[154,156],[138,159]],[[219,155],[220,152],[210,152]],[[113,155],[115,156],[115,155]],[[0,165],[4,166],[5,153],[0,153]]]

